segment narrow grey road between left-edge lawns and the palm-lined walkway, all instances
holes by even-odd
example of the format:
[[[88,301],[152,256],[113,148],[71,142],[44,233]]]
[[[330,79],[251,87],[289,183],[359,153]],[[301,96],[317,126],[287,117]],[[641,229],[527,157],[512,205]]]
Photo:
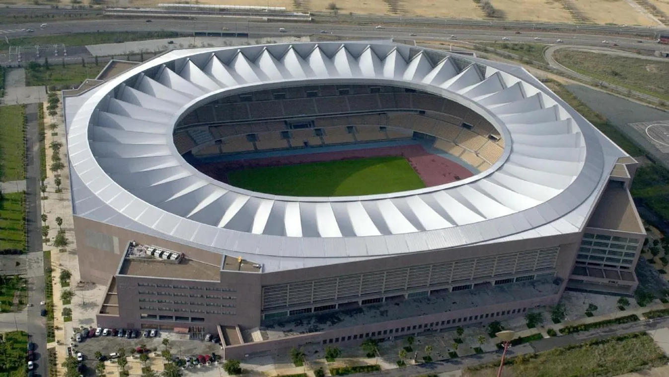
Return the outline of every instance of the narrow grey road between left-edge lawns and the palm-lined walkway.
[[[41,104],[40,104],[41,105]],[[41,208],[39,187],[41,185],[39,127],[37,125],[38,104],[25,106],[26,120],[26,161],[25,195],[27,202],[27,279],[28,303],[26,329],[33,343],[37,345],[36,373],[47,377],[46,319],[40,315],[39,303],[46,299],[44,293],[44,258],[41,242]]]

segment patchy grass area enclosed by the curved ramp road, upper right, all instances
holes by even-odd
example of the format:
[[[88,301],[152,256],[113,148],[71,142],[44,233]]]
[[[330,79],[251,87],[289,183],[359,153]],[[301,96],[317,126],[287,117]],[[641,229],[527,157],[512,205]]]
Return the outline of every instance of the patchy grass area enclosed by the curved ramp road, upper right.
[[[567,49],[557,50],[555,60],[597,80],[669,100],[669,61],[654,62]]]

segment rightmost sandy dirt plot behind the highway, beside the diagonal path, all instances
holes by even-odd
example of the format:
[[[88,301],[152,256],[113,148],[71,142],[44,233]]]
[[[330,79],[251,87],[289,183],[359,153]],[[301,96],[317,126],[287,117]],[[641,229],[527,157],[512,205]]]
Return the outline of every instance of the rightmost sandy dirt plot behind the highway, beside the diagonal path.
[[[625,0],[573,0],[572,3],[595,23],[655,25],[654,21],[636,11]]]

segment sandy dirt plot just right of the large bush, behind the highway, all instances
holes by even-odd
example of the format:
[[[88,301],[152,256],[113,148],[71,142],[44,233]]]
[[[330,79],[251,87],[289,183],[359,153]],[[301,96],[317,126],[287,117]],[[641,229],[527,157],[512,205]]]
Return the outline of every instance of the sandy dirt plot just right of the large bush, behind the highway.
[[[573,22],[559,0],[490,0],[490,3],[509,20]]]

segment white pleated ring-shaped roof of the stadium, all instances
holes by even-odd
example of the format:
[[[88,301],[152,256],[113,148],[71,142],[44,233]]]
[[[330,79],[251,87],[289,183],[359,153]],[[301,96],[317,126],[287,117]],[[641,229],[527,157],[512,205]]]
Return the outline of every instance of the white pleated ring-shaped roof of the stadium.
[[[173,143],[187,113],[282,86],[385,84],[454,100],[504,138],[468,179],[376,196],[232,187]],[[173,50],[66,100],[74,214],[281,271],[578,232],[626,153],[518,66],[379,42]]]

